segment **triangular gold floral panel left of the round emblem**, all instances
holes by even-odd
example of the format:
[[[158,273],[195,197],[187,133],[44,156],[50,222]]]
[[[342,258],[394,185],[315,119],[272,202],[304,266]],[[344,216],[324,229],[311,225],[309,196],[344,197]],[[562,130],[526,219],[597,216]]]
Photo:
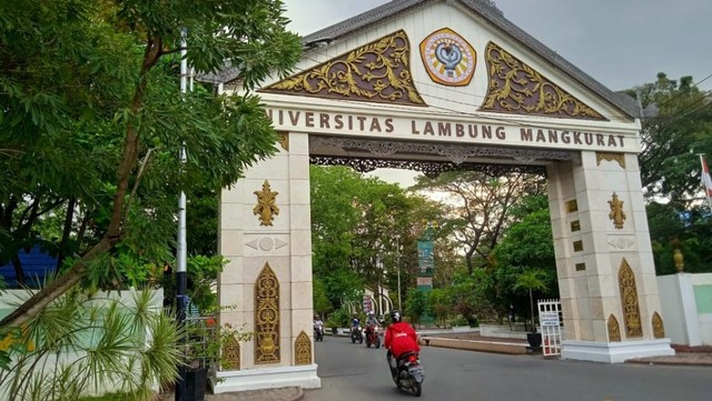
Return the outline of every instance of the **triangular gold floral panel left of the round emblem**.
[[[404,30],[337,56],[260,91],[426,106],[415,89],[411,73],[411,42]]]

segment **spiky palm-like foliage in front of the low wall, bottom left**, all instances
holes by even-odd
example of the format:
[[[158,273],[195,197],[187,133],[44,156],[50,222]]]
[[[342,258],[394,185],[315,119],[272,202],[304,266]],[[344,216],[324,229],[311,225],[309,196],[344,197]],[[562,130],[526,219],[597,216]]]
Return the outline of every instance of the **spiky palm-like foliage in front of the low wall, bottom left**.
[[[152,304],[158,303],[157,309]],[[179,331],[148,291],[126,301],[71,291],[22,330],[12,330],[11,363],[0,372],[3,400],[69,400],[116,382],[130,399],[148,400],[171,383],[181,361]],[[67,360],[66,354],[76,354]]]

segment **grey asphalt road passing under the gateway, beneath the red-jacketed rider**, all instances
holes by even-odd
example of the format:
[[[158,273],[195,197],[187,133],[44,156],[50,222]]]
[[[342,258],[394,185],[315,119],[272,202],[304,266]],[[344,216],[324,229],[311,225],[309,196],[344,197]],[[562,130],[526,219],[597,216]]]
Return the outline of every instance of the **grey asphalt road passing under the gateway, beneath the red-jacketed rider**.
[[[305,401],[408,400],[388,374],[385,349],[326,337],[315,343],[322,389]],[[424,348],[421,400],[712,400],[710,367],[604,364]]]

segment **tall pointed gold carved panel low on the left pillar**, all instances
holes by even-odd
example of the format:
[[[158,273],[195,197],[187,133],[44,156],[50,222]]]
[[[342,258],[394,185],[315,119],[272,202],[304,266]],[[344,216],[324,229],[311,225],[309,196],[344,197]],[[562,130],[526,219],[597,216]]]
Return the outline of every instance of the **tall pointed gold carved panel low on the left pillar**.
[[[279,362],[279,280],[269,267],[255,282],[255,363]]]

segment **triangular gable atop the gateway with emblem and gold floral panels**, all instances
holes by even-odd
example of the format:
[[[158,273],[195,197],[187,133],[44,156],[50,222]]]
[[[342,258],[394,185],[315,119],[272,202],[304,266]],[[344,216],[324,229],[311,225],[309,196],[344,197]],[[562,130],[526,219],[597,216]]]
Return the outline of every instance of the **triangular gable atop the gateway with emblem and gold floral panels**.
[[[484,0],[392,1],[305,37],[260,92],[452,113],[632,121],[633,104]]]

